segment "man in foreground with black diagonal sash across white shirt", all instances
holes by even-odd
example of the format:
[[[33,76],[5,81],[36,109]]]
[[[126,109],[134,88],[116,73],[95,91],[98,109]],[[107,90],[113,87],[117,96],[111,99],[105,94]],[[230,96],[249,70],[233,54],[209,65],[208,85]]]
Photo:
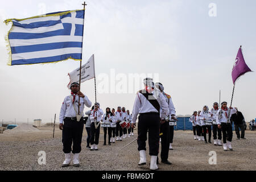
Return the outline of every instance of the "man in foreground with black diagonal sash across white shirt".
[[[146,140],[148,132],[149,154],[151,155],[150,169],[158,169],[156,164],[159,150],[159,128],[160,121],[169,115],[168,105],[162,93],[154,90],[154,82],[152,78],[143,80],[144,89],[139,90],[135,97],[133,106],[133,123],[131,127],[135,127],[137,116],[138,122],[138,151],[140,155],[139,166],[146,164]],[[162,113],[160,118],[160,107]]]

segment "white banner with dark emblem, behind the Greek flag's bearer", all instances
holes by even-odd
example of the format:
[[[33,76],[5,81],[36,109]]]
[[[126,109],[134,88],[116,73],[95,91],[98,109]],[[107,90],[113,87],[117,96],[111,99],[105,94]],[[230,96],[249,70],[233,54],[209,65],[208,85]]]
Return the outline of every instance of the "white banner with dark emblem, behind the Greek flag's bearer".
[[[79,83],[79,75],[80,75],[80,67],[75,69],[74,71],[68,73],[69,75],[69,84],[68,88],[73,82]],[[81,67],[81,83],[90,80],[95,77],[95,69],[94,69],[94,55],[90,56],[90,59],[82,65]]]

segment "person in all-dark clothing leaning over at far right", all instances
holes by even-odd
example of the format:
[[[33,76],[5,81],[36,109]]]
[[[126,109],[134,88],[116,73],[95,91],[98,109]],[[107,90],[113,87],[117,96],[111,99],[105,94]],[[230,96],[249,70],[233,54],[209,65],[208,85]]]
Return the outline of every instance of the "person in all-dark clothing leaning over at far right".
[[[237,110],[237,107],[235,107]],[[243,117],[243,114],[237,110],[236,113],[231,115],[230,121],[234,122],[234,128],[236,130],[237,134],[237,139],[240,139],[240,131],[241,129],[241,139],[246,139],[245,138],[245,126],[243,123],[245,122],[245,118]]]

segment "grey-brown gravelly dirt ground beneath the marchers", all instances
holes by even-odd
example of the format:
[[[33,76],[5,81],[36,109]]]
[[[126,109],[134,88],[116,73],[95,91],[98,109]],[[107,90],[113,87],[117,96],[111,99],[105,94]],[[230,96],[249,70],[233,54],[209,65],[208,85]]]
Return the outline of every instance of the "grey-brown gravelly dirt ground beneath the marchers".
[[[81,166],[61,168],[64,160],[61,131],[52,127],[40,127],[38,132],[0,134],[0,170],[148,170],[150,156],[147,153],[146,166],[139,167],[137,142],[121,150],[123,146],[137,137],[123,139],[122,142],[103,146],[101,129],[98,151],[90,151],[86,146],[86,131],[82,138],[82,151],[79,159]],[[175,131],[174,150],[169,152],[171,165],[159,163],[159,170],[253,170],[256,168],[256,131],[246,130],[246,140],[237,140],[233,131],[233,151],[223,151],[222,146],[213,146],[193,139],[192,131]],[[213,140],[213,139],[212,139]],[[161,146],[161,145],[160,145]],[[148,147],[148,143],[147,143]],[[160,151],[161,147],[159,148]],[[38,164],[39,151],[46,152],[46,164]],[[216,151],[217,164],[209,164],[209,152]],[[160,156],[160,154],[159,154]],[[160,162],[160,160],[159,160]]]

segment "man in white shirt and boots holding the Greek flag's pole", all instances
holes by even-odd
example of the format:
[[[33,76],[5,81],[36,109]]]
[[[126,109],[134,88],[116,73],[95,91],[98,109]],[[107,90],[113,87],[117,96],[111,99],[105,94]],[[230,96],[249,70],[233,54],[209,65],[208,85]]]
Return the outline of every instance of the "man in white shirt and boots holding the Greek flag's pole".
[[[79,91],[79,84],[77,82],[73,82],[70,89],[71,95],[65,97],[59,115],[59,128],[62,130],[63,152],[65,154],[65,160],[61,167],[68,167],[71,163],[72,142],[73,166],[80,166],[79,153],[81,152],[82,130],[84,129],[84,106],[92,106],[92,102],[90,102],[89,98]],[[78,107],[80,109],[78,109]],[[79,113],[77,113],[78,110],[80,110]],[[82,115],[82,117],[79,120],[80,115]]]

